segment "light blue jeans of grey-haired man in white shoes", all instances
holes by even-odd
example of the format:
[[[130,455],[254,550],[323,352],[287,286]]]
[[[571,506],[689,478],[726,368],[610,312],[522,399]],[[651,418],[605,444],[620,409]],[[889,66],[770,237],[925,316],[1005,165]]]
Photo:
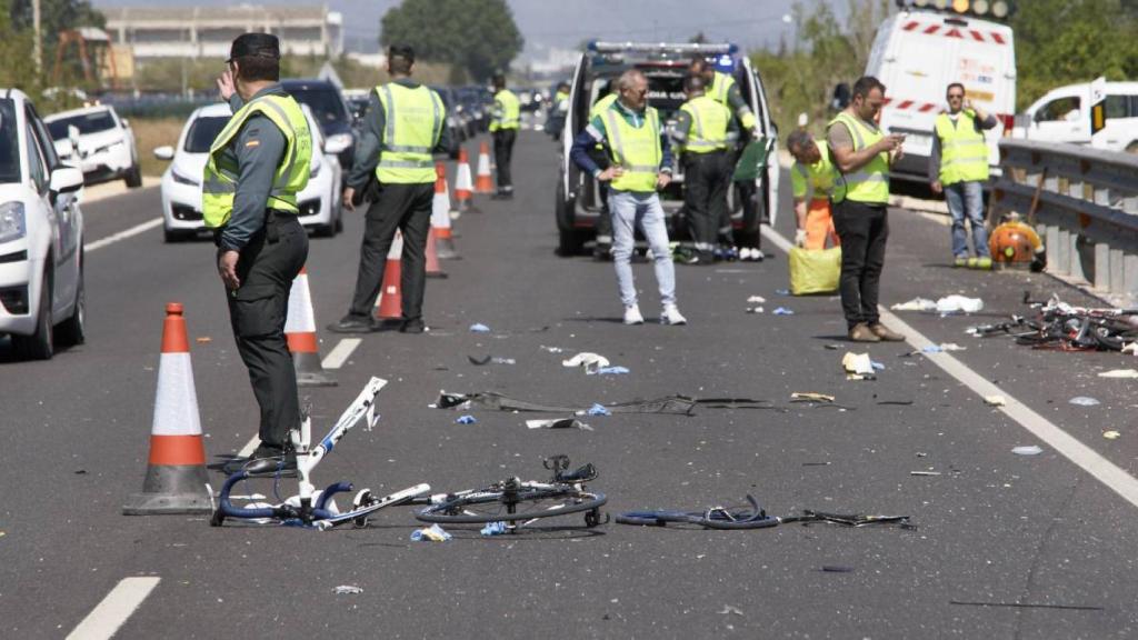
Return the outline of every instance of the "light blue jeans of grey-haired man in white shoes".
[[[636,304],[636,282],[633,279],[633,248],[636,241],[636,225],[648,239],[655,263],[655,282],[660,288],[660,302],[676,303],[676,268],[668,247],[668,228],[663,222],[660,196],[633,191],[609,191],[609,214],[612,216],[612,262],[620,285],[620,302],[625,306]]]

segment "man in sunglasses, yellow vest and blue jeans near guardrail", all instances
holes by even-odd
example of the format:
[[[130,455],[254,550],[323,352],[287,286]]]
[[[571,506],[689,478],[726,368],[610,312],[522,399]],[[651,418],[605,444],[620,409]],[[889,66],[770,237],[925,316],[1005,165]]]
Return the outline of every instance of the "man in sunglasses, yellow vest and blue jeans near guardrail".
[[[929,182],[937,195],[945,194],[953,214],[953,257],[956,266],[991,269],[988,229],[984,227],[983,183],[988,181],[988,142],[984,131],[996,126],[996,117],[974,107],[964,85],[948,85],[948,112],[937,116],[929,155]],[[972,248],[964,232],[964,219],[972,227]]]

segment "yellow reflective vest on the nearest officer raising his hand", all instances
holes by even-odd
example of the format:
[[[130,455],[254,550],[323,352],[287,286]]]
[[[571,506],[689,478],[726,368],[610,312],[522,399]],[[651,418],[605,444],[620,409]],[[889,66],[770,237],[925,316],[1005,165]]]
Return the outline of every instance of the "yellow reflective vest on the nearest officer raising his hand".
[[[308,184],[312,163],[312,132],[308,121],[289,96],[269,95],[256,98],[238,109],[209,147],[201,181],[201,216],[205,225],[215,229],[229,222],[233,214],[233,197],[237,192],[238,167],[225,150],[237,138],[241,126],[254,114],[262,114],[272,121],[284,136],[284,155],[273,177],[265,208],[298,213],[296,195]]]

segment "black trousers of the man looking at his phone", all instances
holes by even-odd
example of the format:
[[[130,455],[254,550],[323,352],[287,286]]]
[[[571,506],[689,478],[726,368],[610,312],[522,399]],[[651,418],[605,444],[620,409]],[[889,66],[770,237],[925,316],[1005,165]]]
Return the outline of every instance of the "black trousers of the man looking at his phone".
[[[842,241],[842,312],[849,328],[880,321],[877,294],[885,265],[889,215],[885,205],[843,200],[833,205],[834,230]]]

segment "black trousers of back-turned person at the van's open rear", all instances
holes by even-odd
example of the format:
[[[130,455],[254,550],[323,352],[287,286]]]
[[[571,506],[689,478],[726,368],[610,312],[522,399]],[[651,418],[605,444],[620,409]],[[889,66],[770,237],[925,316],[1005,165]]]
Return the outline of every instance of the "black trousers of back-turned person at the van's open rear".
[[[727,154],[685,154],[684,208],[691,221],[692,239],[699,251],[715,248],[723,220],[727,218]]]

